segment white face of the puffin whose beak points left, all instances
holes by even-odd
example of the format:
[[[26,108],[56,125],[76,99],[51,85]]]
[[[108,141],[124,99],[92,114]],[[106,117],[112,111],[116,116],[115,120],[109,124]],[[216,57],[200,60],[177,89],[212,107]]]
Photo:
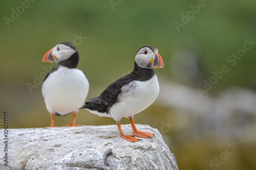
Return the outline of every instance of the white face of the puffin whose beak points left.
[[[58,44],[53,47],[52,56],[56,63],[59,61],[67,60],[70,58],[76,50],[65,44]]]

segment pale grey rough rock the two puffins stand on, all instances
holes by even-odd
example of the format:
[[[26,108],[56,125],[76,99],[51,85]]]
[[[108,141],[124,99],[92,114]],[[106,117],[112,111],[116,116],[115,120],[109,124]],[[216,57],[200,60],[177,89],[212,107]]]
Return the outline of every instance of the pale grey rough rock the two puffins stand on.
[[[9,129],[6,169],[178,169],[159,131],[136,126],[156,136],[131,143],[119,136],[116,125]],[[122,130],[132,134],[131,125]]]

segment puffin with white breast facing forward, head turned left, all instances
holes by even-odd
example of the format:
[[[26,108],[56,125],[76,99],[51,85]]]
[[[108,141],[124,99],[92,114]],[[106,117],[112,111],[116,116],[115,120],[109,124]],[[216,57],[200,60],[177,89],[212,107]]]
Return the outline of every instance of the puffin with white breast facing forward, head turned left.
[[[66,127],[81,126],[75,123],[79,107],[84,104],[89,91],[86,74],[77,68],[79,55],[71,42],[61,42],[49,50],[42,62],[56,62],[57,65],[46,75],[42,84],[42,96],[46,108],[51,114],[51,126],[54,116],[73,112],[73,121]]]

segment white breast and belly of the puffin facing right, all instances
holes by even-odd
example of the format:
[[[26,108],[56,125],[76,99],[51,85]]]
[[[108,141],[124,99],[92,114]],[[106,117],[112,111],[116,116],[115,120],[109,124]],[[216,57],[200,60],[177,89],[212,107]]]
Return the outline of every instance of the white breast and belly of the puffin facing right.
[[[159,84],[156,75],[145,82],[132,81],[121,88],[118,102],[111,107],[110,114],[116,121],[121,117],[137,114],[149,107],[156,100],[158,93]]]

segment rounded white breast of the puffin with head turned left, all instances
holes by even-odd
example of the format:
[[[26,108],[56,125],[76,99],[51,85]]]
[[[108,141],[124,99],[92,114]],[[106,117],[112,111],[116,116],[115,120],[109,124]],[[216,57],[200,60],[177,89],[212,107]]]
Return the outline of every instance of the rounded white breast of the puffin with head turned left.
[[[42,84],[42,95],[50,113],[78,112],[87,98],[89,82],[77,68],[60,66]]]

